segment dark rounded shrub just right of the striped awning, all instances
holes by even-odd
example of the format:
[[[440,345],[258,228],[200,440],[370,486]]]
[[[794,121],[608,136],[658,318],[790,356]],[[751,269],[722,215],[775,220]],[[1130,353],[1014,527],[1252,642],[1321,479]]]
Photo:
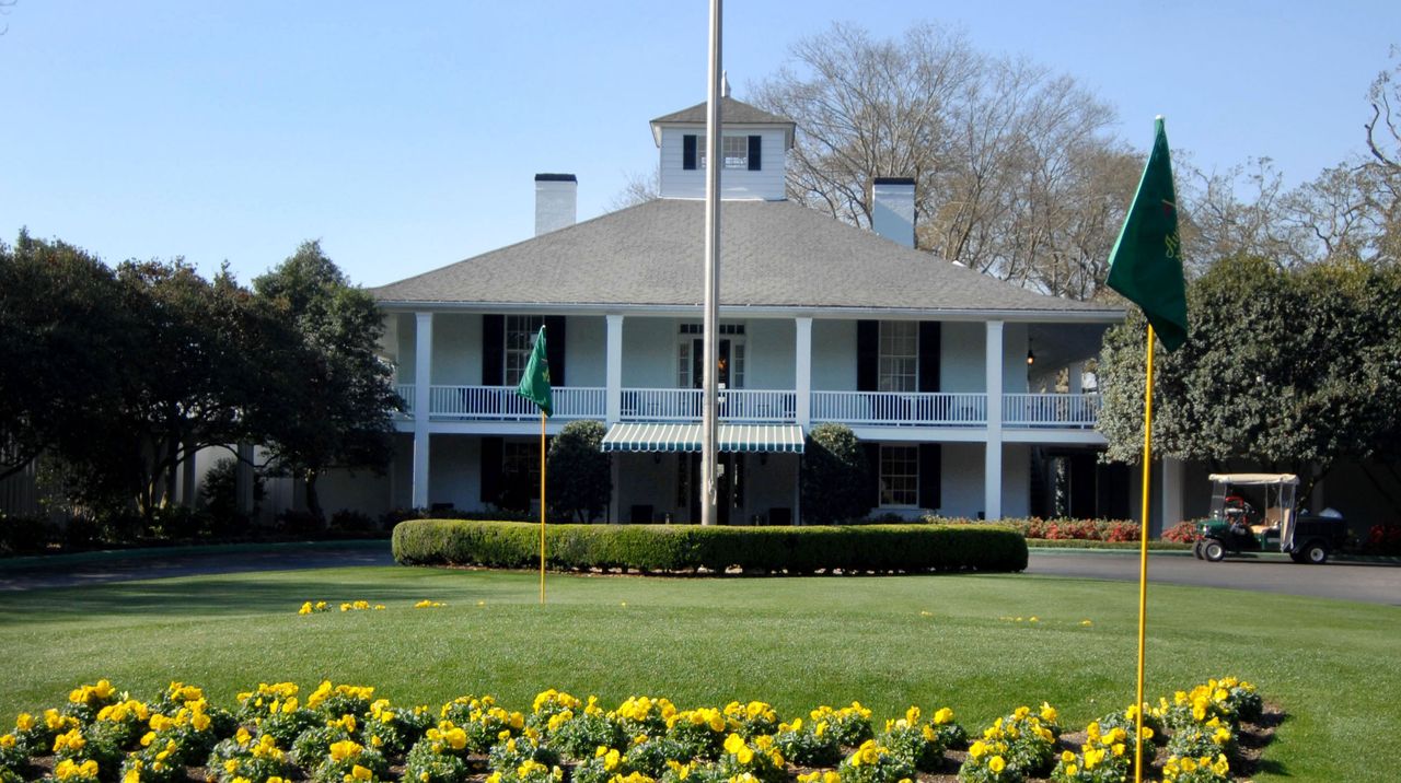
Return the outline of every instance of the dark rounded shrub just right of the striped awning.
[[[799,483],[807,521],[828,525],[870,511],[870,466],[846,424],[828,422],[808,431]]]

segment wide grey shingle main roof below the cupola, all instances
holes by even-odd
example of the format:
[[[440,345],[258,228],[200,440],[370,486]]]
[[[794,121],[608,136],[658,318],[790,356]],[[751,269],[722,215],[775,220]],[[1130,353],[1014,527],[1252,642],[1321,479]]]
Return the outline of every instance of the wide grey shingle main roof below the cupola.
[[[722,202],[722,307],[1012,311],[1089,321],[1122,311],[1028,291],[902,248],[793,202]],[[394,304],[699,307],[705,202],[657,199],[391,283]]]

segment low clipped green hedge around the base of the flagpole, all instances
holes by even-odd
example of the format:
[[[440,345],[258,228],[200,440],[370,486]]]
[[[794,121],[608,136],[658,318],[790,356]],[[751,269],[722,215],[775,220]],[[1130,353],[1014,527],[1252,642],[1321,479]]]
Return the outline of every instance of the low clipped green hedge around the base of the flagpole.
[[[1020,571],[1027,542],[998,525],[700,527],[548,525],[552,570]],[[539,564],[539,527],[521,522],[410,520],[394,528],[406,566]]]

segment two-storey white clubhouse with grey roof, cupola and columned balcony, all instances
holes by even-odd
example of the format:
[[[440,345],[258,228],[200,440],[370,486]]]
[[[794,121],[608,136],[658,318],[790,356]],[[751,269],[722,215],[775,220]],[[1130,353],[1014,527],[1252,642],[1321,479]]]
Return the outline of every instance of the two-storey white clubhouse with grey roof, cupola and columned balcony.
[[[1124,312],[912,249],[911,179],[870,185],[874,233],[786,200],[794,125],[723,101],[722,522],[799,522],[803,434],[822,422],[864,444],[873,514],[1044,513],[1058,464],[1072,514],[1129,515],[1128,472],[1096,464],[1098,396],[1079,388]],[[408,412],[389,476],[335,480],[331,503],[538,497],[539,420],[514,388],[545,325],[548,431],[608,427],[609,520],[696,518],[705,109],[651,120],[661,198],[576,224],[574,176],[542,174],[534,238],[371,291]]]

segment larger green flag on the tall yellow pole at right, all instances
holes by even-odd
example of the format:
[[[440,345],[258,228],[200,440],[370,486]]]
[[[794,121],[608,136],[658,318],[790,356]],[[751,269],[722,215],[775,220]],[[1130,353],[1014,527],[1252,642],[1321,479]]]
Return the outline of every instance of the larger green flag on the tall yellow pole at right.
[[[1167,350],[1187,342],[1187,283],[1182,240],[1177,234],[1177,193],[1163,118],[1156,120],[1153,154],[1110,254],[1111,289],[1143,308]]]

